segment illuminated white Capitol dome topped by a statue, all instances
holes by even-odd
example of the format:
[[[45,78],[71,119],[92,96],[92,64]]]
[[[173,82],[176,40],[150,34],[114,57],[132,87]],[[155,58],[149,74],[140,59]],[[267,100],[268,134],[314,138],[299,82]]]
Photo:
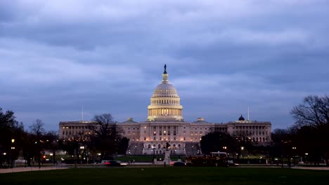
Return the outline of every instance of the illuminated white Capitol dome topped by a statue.
[[[167,66],[164,65],[162,82],[155,88],[148,106],[148,121],[183,121],[183,107],[174,85],[168,81]]]

